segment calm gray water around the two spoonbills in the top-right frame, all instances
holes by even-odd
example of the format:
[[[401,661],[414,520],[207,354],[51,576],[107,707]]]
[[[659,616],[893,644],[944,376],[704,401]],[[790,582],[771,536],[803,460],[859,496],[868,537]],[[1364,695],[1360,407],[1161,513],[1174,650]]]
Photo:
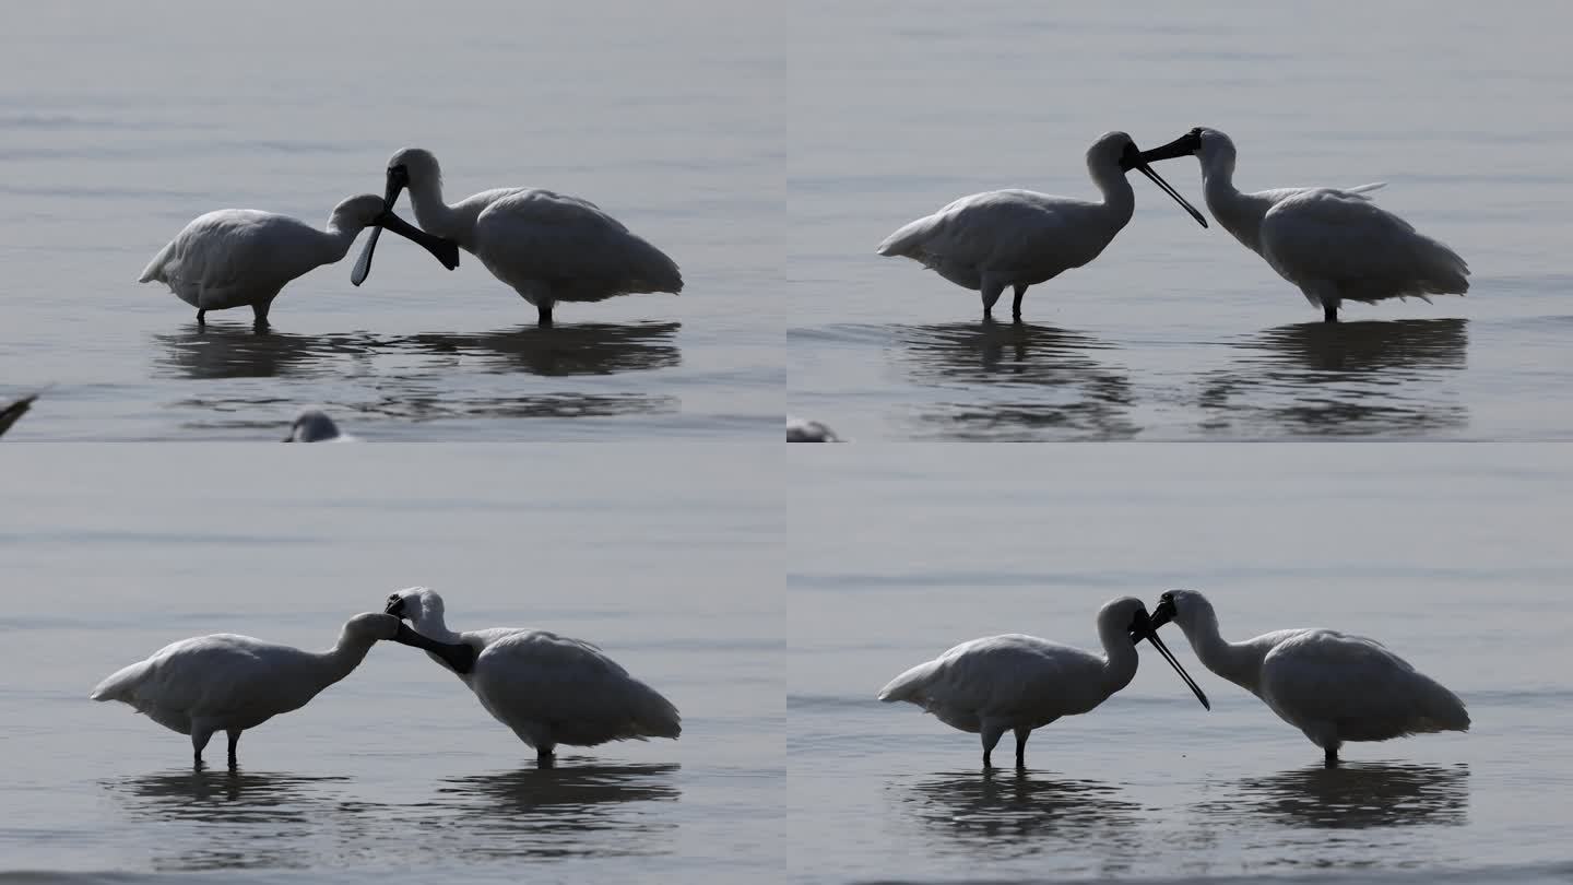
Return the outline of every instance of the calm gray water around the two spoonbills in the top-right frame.
[[[1562,3],[799,5],[788,411],[875,439],[1567,438],[1573,101]],[[1320,313],[1133,175],[1136,217],[1024,328],[875,246],[997,187],[1096,198],[1087,145],[1192,126],[1236,184],[1387,181],[1468,298]],[[1205,211],[1197,162],[1159,172]],[[1008,312],[1005,313],[1008,317]]]

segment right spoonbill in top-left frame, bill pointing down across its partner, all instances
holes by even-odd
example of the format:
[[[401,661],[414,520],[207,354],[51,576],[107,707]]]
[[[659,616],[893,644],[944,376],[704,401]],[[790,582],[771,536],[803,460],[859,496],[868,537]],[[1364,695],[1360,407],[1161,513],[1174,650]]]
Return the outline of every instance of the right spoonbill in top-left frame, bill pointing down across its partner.
[[[389,161],[389,211],[404,187],[420,227],[480,258],[494,277],[535,305],[541,326],[552,324],[558,301],[683,291],[683,274],[672,258],[590,200],[538,187],[497,187],[450,206],[442,202],[437,157],[422,148],[404,148]],[[360,285],[371,272],[376,246],[378,231],[371,231],[349,277],[352,283]]]

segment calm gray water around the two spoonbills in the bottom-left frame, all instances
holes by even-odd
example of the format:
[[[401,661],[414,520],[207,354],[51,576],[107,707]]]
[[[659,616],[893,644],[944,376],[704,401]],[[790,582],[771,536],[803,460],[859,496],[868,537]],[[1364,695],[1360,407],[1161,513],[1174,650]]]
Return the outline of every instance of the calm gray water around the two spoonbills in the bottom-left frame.
[[[752,452],[651,449],[653,471],[588,449],[422,447],[412,471],[415,449],[310,450],[327,460],[6,447],[0,882],[779,874],[782,510]],[[184,735],[87,699],[186,636],[326,649],[417,583],[459,630],[598,642],[678,705],[683,737],[563,748],[540,770],[451,674],[395,644],[249,731],[239,775],[193,773]]]

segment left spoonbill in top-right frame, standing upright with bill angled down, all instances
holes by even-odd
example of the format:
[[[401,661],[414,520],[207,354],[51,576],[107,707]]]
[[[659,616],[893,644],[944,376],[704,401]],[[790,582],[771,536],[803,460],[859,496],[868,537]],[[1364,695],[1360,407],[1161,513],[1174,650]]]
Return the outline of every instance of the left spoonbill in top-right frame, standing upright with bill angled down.
[[[985,317],[993,317],[1005,287],[1013,287],[1011,317],[1021,320],[1027,287],[1092,261],[1131,220],[1136,192],[1125,173],[1133,168],[1206,227],[1202,213],[1142,161],[1129,135],[1107,132],[1087,148],[1087,172],[1103,202],[1033,191],[974,194],[892,233],[878,252],[912,258],[960,287],[982,291]]]

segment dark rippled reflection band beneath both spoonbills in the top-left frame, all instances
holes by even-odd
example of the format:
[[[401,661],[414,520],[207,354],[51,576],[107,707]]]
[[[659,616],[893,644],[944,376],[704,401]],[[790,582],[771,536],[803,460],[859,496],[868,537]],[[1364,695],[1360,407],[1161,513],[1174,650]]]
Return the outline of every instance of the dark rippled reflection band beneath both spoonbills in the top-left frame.
[[[540,329],[518,326],[475,335],[371,332],[299,335],[209,326],[206,331],[153,335],[157,370],[181,378],[311,378],[367,375],[376,361],[396,361],[401,372],[480,368],[547,378],[618,375],[681,364],[681,323],[582,323]]]

